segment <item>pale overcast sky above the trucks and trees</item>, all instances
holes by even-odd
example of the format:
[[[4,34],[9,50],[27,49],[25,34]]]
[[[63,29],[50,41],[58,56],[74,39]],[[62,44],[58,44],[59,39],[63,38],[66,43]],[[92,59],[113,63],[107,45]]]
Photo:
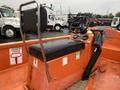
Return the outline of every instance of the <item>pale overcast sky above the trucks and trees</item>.
[[[8,5],[14,9],[18,9],[21,3],[30,0],[0,0],[0,5]],[[120,0],[37,0],[41,3],[53,3],[56,10],[62,6],[63,13],[71,12],[92,12],[97,14],[115,14],[120,11]]]

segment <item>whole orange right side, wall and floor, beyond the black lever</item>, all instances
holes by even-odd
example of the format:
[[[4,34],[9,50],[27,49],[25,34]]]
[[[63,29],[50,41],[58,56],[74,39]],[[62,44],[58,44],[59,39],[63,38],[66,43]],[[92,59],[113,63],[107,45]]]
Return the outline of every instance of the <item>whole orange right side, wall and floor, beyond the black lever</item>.
[[[107,29],[102,53],[85,90],[120,90],[120,32]]]

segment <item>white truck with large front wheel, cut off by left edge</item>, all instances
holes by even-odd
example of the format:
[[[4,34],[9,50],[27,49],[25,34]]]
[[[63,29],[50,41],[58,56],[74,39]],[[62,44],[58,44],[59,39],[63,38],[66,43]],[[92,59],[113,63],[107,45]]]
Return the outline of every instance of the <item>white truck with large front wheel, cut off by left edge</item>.
[[[19,18],[10,9],[0,7],[0,33],[7,38],[16,37],[19,32]]]

